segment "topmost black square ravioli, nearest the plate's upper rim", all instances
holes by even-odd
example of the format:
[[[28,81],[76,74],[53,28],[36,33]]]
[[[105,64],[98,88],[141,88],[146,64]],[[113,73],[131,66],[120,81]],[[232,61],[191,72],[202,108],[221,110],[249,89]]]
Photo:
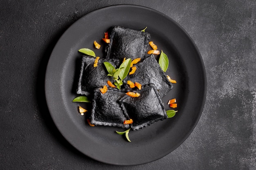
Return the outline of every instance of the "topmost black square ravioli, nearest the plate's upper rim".
[[[106,58],[123,60],[126,57],[133,60],[145,56],[150,40],[149,33],[121,26],[113,26],[108,33],[110,43],[106,48]]]

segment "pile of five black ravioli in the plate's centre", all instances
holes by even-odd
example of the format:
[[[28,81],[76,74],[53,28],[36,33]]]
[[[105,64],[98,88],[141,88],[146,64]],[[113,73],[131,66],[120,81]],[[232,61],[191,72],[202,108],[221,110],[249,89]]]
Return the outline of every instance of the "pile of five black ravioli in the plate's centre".
[[[105,57],[99,59],[97,67],[93,66],[94,57],[82,57],[77,94],[92,98],[91,123],[138,130],[166,119],[161,99],[173,86],[155,57],[146,54],[150,34],[120,26],[113,26],[108,34],[110,43],[106,46]],[[108,71],[103,62],[119,68],[125,57],[132,60],[141,58],[136,64],[135,73],[123,80],[120,90],[108,87],[106,93],[101,93],[99,89],[107,85],[108,80],[114,82],[113,77],[107,76]],[[141,90],[130,88],[128,80],[140,83]],[[130,97],[126,95],[128,91],[139,93],[140,96]],[[129,119],[133,123],[124,124]]]

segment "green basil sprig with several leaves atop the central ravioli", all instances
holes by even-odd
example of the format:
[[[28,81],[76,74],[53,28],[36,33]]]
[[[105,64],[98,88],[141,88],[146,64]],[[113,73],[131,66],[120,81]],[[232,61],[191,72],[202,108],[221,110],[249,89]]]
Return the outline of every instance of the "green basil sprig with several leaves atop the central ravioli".
[[[112,66],[111,63],[103,62],[108,71],[108,76],[114,78],[114,84],[117,86],[118,89],[121,88],[121,86],[123,85],[123,79],[128,75],[130,71],[131,62],[132,59],[128,58],[117,69],[114,66]]]

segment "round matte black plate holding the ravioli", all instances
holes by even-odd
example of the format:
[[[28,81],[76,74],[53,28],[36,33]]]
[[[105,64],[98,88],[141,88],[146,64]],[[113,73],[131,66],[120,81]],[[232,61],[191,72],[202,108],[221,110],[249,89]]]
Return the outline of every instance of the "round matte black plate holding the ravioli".
[[[78,112],[76,80],[81,48],[94,49],[101,44],[111,26],[123,26],[150,33],[159,50],[168,55],[167,75],[177,80],[173,90],[163,98],[176,98],[175,117],[158,121],[142,130],[130,131],[132,142],[115,133],[115,127],[91,127]],[[96,55],[103,55],[94,49]],[[153,68],[152,68],[153,69]],[[58,130],[77,150],[95,160],[115,165],[138,165],[164,157],[190,135],[202,113],[206,96],[206,75],[200,53],[189,35],[168,16],[135,5],[116,5],[88,13],[61,36],[49,59],[45,93],[50,114]],[[83,107],[90,108],[87,104]]]

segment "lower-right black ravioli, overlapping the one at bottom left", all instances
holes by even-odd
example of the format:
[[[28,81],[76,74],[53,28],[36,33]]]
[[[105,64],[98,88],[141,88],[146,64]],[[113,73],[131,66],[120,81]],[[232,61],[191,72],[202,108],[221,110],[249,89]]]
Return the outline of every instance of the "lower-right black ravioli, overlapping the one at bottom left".
[[[127,110],[129,117],[133,120],[130,125],[132,130],[146,127],[167,118],[164,105],[154,84],[148,84],[143,86],[141,90],[133,92],[139,93],[140,96],[125,95],[120,99],[123,110]]]

